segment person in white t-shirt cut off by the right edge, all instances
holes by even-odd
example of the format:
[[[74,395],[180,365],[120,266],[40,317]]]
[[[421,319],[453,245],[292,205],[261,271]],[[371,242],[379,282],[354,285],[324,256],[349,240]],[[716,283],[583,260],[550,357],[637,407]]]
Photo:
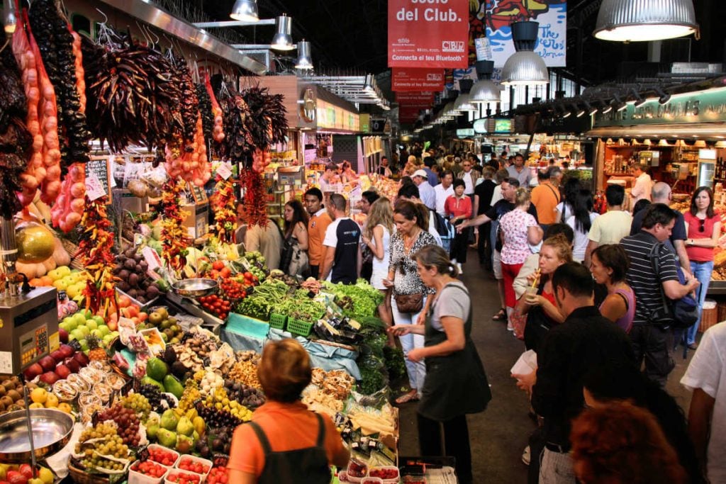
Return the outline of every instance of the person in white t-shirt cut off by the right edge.
[[[693,390],[688,435],[711,483],[726,483],[726,323],[703,333],[681,385]]]

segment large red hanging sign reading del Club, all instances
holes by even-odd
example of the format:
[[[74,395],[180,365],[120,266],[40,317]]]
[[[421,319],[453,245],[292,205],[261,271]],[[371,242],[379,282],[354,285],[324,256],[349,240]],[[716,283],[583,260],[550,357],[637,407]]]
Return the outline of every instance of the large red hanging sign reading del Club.
[[[467,0],[388,0],[388,67],[468,66]]]

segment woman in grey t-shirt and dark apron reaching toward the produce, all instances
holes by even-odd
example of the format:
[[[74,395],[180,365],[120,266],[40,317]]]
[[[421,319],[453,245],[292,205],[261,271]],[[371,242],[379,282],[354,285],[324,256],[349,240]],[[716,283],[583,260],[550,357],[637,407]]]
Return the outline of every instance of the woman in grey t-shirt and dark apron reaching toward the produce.
[[[413,258],[421,280],[436,294],[431,296],[424,326],[397,324],[389,331],[397,336],[425,336],[424,347],[412,348],[407,356],[426,364],[418,406],[420,451],[424,456],[453,456],[459,482],[470,484],[474,479],[466,414],[484,411],[492,393],[470,337],[469,293],[456,279],[457,268],[441,247],[423,247]]]

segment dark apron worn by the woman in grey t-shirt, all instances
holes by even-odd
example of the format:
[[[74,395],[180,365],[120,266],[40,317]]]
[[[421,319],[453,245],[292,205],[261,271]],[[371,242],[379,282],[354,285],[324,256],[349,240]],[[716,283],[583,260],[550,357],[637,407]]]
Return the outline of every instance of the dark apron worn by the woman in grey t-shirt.
[[[443,293],[444,286],[441,289]],[[463,287],[452,285],[468,296]],[[439,294],[439,298],[441,293]],[[436,302],[439,301],[436,298]],[[431,305],[426,314],[425,346],[438,345],[446,341],[446,332],[439,331],[431,325],[431,317],[436,303]],[[418,413],[428,419],[446,422],[463,414],[477,414],[486,409],[492,400],[492,391],[486,380],[484,365],[471,340],[471,323],[473,311],[469,303],[469,317],[464,323],[464,349],[447,356],[430,356],[425,358],[426,379],[421,390],[421,401]]]

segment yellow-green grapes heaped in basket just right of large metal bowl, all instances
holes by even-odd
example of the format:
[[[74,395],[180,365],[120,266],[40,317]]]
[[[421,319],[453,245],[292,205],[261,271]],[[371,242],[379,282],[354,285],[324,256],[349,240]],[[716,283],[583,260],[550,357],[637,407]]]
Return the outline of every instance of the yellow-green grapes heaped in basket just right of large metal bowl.
[[[94,441],[89,442],[89,440]],[[106,459],[103,456],[127,459],[129,447],[123,443],[113,425],[102,423],[81,432],[81,437],[76,443],[76,454],[82,455],[81,465],[86,469],[122,470],[125,464]]]

